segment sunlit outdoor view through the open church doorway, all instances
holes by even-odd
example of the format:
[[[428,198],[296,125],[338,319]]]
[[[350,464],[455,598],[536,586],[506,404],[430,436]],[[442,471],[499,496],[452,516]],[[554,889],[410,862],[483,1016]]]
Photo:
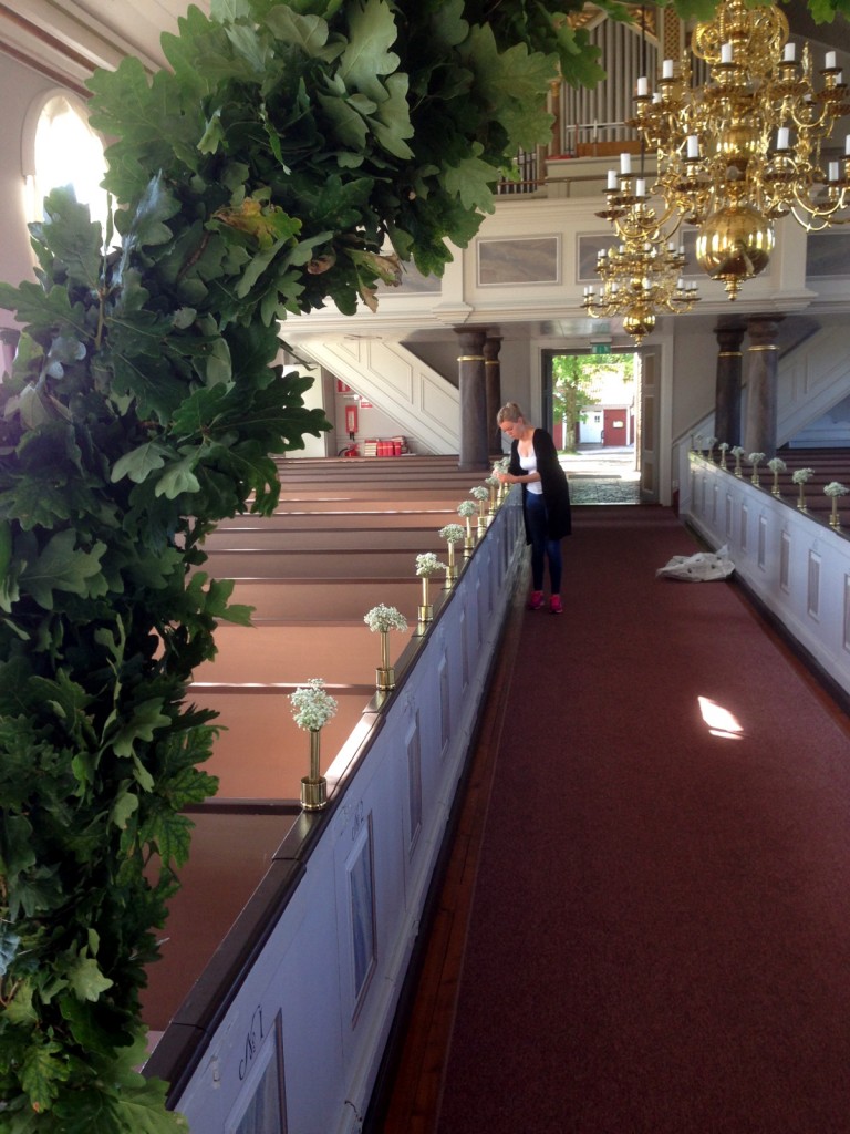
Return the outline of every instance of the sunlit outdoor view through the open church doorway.
[[[543,389],[572,502],[640,503],[640,355],[546,352]]]

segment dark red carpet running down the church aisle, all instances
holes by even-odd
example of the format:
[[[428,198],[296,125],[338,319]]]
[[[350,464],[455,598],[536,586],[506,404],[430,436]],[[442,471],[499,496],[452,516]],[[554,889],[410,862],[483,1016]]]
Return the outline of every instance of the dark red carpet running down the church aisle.
[[[564,550],[568,613],[524,616],[439,1132],[845,1134],[845,721],[734,587],[654,577],[696,550],[666,509],[583,509]]]

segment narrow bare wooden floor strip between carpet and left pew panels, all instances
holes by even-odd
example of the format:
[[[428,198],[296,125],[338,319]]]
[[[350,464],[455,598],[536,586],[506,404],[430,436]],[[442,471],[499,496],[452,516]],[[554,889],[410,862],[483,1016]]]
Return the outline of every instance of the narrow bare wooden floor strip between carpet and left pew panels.
[[[502,731],[505,694],[519,643],[527,579],[518,581],[483,711],[456,821],[451,852],[437,882],[416,990],[391,1053],[391,1070],[364,1125],[364,1134],[433,1134],[445,1052],[451,1039],[484,824]]]

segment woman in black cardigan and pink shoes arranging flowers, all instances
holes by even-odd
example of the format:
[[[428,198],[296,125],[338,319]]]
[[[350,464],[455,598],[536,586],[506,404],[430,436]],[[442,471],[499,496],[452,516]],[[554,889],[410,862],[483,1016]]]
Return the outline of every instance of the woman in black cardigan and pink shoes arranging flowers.
[[[499,474],[499,480],[522,485],[526,543],[532,544],[533,590],[528,607],[539,610],[543,606],[543,573],[549,560],[550,610],[560,615],[563,612],[561,540],[572,527],[567,474],[550,434],[530,425],[516,401],[502,406],[496,421],[501,431],[511,438],[510,465],[507,473]]]

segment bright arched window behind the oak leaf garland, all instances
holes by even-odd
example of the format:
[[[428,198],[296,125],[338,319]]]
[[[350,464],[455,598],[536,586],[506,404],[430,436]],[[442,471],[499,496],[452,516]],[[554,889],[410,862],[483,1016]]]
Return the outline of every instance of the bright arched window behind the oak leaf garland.
[[[77,201],[88,205],[92,220],[105,230],[108,197],[100,187],[107,169],[103,142],[88,125],[82,99],[54,91],[37,100],[25,126],[22,158],[28,221],[43,219],[44,197],[51,189],[71,185]]]

